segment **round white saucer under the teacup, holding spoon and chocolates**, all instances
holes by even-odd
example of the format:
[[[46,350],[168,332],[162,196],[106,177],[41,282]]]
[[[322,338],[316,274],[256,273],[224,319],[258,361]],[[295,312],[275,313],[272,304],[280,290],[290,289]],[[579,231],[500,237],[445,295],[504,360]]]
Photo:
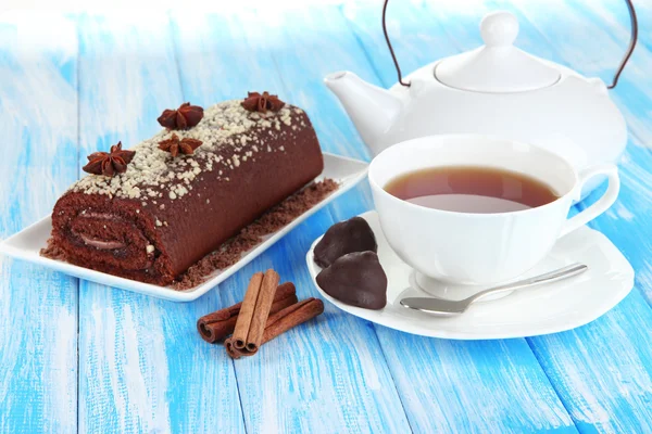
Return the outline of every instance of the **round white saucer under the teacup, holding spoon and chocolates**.
[[[368,221],[376,234],[378,257],[388,278],[387,306],[383,310],[348,306],[319,289],[315,278],[321,268],[313,260],[313,250],[321,237],[308,252],[308,268],[322,296],[335,306],[356,317],[403,332],[456,340],[555,333],[593,321],[625,298],[634,286],[634,269],[623,254],[602,233],[584,227],[561,239],[550,255],[524,277],[540,275],[572,263],[588,265],[589,270],[585,273],[472,305],[465,314],[456,317],[435,317],[399,304],[401,298],[408,296],[429,294],[412,286],[415,282],[414,271],[387,243],[376,212],[372,210],[360,217]],[[442,293],[447,291],[450,294],[454,288],[449,286]],[[454,295],[451,298],[462,298]]]

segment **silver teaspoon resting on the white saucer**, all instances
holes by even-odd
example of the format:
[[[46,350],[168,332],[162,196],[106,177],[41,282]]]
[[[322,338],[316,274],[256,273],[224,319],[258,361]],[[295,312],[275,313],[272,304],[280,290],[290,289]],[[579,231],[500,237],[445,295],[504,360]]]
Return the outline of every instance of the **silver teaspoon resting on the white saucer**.
[[[568,279],[573,276],[581,275],[589,267],[584,264],[573,264],[567,267],[560,268],[544,275],[535,276],[531,278],[510,282],[500,286],[493,286],[485,291],[480,291],[471,297],[451,301],[434,297],[409,297],[401,299],[401,305],[415,310],[425,311],[440,316],[453,316],[464,314],[468,306],[487,295],[493,295],[501,292],[521,290],[529,286],[538,286],[543,283],[552,283],[559,280]]]

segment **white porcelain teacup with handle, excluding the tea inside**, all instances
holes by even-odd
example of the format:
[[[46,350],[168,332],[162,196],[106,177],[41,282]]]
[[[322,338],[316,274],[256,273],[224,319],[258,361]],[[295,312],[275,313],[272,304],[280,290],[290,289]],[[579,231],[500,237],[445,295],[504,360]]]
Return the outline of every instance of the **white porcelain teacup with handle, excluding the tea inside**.
[[[398,199],[384,187],[400,175],[440,166],[482,166],[526,174],[560,197],[509,213],[471,214],[428,208]],[[567,218],[582,186],[606,176],[593,205]],[[561,156],[527,143],[480,135],[430,136],[383,151],[369,166],[369,183],[385,237],[408,265],[426,277],[463,284],[513,279],[543,259],[556,240],[604,213],[616,200],[616,166],[580,175]]]

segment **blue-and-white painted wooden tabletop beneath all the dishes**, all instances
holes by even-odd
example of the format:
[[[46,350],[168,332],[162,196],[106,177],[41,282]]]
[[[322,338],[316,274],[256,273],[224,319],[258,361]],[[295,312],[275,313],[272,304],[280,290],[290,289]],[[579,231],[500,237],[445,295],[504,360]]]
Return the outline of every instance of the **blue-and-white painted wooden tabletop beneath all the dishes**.
[[[368,159],[322,78],[350,69],[396,81],[380,2],[312,3],[0,15],[0,237],[48,215],[87,154],[150,137],[161,110],[184,101],[274,91],[306,108],[325,151]],[[193,303],[0,257],[0,433],[652,432],[652,7],[637,3],[641,41],[612,91],[630,132],[623,188],[591,224],[637,279],[604,317],[553,335],[455,342],[327,305],[256,357],[233,361],[199,339],[197,318],[241,299],[256,270],[274,267],[300,298],[316,295],[305,252],[373,207],[363,182]],[[522,48],[605,80],[628,39],[618,0],[394,2],[403,71],[479,46],[479,20],[496,9],[517,15]]]

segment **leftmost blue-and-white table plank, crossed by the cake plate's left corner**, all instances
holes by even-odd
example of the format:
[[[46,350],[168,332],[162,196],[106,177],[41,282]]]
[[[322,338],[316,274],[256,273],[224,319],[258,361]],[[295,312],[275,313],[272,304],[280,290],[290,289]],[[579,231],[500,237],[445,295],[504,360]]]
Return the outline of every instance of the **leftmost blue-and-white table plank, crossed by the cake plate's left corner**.
[[[74,21],[0,16],[0,237],[48,215],[75,179]],[[77,429],[77,280],[0,257],[0,432]]]

